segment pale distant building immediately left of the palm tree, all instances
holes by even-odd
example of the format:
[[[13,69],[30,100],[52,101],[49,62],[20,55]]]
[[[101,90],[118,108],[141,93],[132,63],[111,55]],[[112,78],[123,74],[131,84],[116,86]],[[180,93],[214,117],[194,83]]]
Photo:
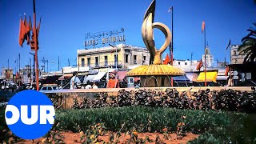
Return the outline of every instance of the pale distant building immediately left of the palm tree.
[[[231,46],[231,64],[242,64],[244,61],[244,58],[246,57],[246,54],[242,53],[239,54],[238,52],[238,46],[239,45],[232,45]]]

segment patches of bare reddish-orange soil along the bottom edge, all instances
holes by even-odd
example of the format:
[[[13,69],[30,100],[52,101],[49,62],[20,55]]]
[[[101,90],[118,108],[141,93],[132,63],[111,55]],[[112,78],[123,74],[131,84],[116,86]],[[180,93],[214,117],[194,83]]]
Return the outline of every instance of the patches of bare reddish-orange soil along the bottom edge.
[[[65,143],[81,143],[80,141],[80,134],[79,133],[72,133],[72,132],[63,132],[62,135],[64,136],[64,142]],[[99,136],[99,140],[102,140],[104,142],[108,142],[109,141],[109,135],[110,133],[105,134],[104,136]],[[166,140],[164,139],[164,134],[157,134],[157,133],[139,133],[138,134],[138,138],[143,138],[145,139],[146,136],[148,136],[151,140],[156,139],[157,136],[160,137],[160,139],[165,142],[166,144],[168,143],[174,143],[174,144],[180,144],[180,143],[186,143],[194,138],[198,138],[198,134],[191,134],[191,133],[187,133],[185,137],[183,137],[182,139],[177,139],[176,134],[169,134],[170,135],[170,139]],[[128,140],[130,138],[130,135],[126,135],[126,134],[122,134],[122,136],[119,138],[119,143],[125,143],[126,140]],[[36,140],[33,141],[22,141],[22,142],[18,142],[18,143],[26,143],[26,144],[30,144],[30,143],[42,143],[44,141],[43,138],[38,138]],[[103,143],[103,142],[100,142]],[[152,142],[154,143],[154,142]]]

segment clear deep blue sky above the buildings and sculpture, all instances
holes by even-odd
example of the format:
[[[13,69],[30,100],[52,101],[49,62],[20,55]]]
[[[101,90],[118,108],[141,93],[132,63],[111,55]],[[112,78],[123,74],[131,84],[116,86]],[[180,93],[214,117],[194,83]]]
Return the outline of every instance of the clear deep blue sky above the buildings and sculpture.
[[[78,49],[84,49],[87,32],[125,29],[126,44],[144,46],[141,26],[150,0],[36,0],[37,23],[42,16],[39,34],[38,60],[48,59],[49,70],[75,64]],[[174,58],[200,59],[203,54],[202,21],[206,21],[206,40],[214,61],[229,60],[226,45],[241,43],[246,30],[256,22],[256,4],[253,0],[157,0],[154,22],[162,22],[171,29],[170,6],[174,6]],[[0,0],[0,66],[14,67],[21,54],[21,66],[32,58],[30,46],[18,45],[19,14],[33,16],[32,0]],[[164,35],[154,30],[157,47]],[[167,54],[169,53],[166,50]]]

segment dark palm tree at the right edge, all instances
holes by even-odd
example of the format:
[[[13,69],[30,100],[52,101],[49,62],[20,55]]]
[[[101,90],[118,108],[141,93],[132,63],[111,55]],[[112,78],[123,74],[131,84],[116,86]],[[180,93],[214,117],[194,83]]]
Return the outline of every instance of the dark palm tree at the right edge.
[[[256,27],[256,23],[254,23]],[[246,37],[242,38],[242,45],[238,47],[239,54],[246,54],[244,62],[256,62],[256,30],[250,27],[250,32]]]

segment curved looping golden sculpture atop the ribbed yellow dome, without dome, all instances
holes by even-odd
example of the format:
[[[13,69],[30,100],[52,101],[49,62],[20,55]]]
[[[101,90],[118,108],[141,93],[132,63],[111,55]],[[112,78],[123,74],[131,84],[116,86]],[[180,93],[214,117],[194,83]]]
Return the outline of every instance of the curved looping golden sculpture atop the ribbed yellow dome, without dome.
[[[154,10],[155,0],[151,2],[149,8],[146,10],[146,14],[144,15],[144,21],[142,23],[142,38],[146,48],[150,51],[150,64],[153,63],[154,65],[159,65],[162,64],[162,53],[166,50],[167,46],[169,46],[172,35],[170,34],[170,30],[166,25],[160,22],[154,22]],[[160,50],[157,50],[154,46],[154,28],[161,30],[166,36],[166,41],[161,46]]]

